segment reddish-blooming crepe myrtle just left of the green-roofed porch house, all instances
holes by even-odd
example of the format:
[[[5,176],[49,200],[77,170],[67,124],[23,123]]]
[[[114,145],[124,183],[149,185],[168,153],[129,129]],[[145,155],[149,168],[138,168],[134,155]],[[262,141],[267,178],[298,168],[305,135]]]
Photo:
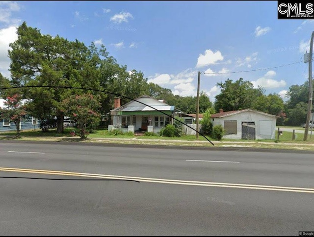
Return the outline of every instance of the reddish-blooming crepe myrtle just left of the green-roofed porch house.
[[[69,96],[62,102],[65,115],[78,122],[79,136],[86,139],[88,129],[95,129],[100,122],[99,97],[92,94]]]

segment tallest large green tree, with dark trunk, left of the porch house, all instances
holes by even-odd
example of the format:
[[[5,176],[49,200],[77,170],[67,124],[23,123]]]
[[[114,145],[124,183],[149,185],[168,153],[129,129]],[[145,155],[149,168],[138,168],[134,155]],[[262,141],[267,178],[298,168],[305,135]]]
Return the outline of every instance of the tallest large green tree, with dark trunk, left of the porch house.
[[[99,61],[83,43],[58,35],[43,35],[39,29],[27,26],[26,22],[17,28],[17,35],[18,39],[10,44],[9,50],[13,85],[100,88],[95,76]],[[24,90],[25,97],[31,99],[31,114],[38,118],[55,115],[58,133],[63,132],[64,118],[60,102],[81,93],[81,90],[65,88]]]

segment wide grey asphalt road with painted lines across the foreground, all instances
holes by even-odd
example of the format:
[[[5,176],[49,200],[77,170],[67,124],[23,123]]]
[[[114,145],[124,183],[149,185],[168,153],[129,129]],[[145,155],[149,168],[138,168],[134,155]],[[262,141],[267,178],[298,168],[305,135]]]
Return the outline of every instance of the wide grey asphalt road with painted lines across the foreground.
[[[1,177],[79,179],[0,178],[5,236],[295,236],[314,228],[313,153],[0,141],[0,167]],[[105,178],[120,180],[80,180]]]

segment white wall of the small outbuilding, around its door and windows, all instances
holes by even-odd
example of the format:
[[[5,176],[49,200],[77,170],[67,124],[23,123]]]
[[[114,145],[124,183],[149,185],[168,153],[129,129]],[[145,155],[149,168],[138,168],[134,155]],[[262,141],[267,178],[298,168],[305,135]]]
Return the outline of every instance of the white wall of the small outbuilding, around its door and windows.
[[[224,127],[224,121],[236,120],[237,121],[237,134],[228,134],[224,135],[224,138],[230,139],[241,139],[242,137],[242,122],[255,122],[256,125],[256,139],[275,139],[276,132],[276,121],[277,119],[272,116],[267,116],[252,111],[246,111],[242,113],[237,113],[235,115],[226,116],[223,118],[211,118],[213,126],[222,125]],[[261,131],[261,121],[267,121],[268,129],[266,129],[265,123],[262,122],[262,131]],[[268,134],[265,133],[265,130]]]

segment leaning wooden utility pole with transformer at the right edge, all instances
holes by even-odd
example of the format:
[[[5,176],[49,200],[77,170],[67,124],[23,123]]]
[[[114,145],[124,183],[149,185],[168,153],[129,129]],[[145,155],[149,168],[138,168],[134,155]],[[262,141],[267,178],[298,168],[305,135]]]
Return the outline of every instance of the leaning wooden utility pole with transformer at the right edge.
[[[308,139],[309,125],[310,125],[311,112],[312,112],[312,101],[313,101],[313,85],[312,85],[313,38],[314,38],[314,31],[312,32],[311,43],[310,43],[310,55],[308,58],[308,60],[309,60],[309,105],[308,105],[308,114],[307,114],[307,118],[306,118],[306,125],[305,125],[303,141],[306,141]],[[305,57],[306,57],[306,55],[305,55]],[[304,60],[306,60],[306,59],[304,59]]]

